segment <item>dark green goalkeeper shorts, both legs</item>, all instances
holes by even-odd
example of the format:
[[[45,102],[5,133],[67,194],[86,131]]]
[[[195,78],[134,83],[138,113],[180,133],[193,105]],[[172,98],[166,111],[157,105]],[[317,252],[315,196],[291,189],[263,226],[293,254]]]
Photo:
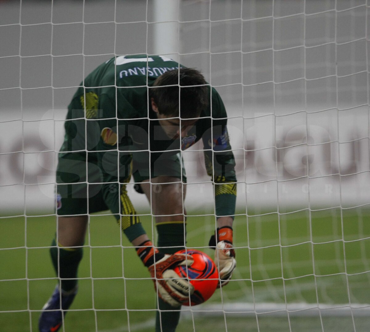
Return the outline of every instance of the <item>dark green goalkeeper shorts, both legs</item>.
[[[151,165],[151,167],[149,167]],[[144,193],[140,183],[157,176],[177,177],[186,183],[180,153],[132,153],[134,188]],[[108,210],[102,195],[103,174],[96,152],[61,152],[56,172],[56,209],[60,216],[85,215]]]

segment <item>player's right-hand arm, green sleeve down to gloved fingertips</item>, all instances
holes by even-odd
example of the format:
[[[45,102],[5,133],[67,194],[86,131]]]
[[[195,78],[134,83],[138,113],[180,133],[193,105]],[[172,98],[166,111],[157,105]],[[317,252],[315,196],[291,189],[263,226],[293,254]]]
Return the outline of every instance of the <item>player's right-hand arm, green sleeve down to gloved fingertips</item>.
[[[209,246],[215,250],[220,286],[231,279],[236,266],[233,249],[233,219],[236,203],[235,159],[229,142],[226,110],[221,97],[212,91],[212,130],[204,135],[206,170],[212,178],[215,195],[217,229]],[[210,146],[210,143],[211,145]]]

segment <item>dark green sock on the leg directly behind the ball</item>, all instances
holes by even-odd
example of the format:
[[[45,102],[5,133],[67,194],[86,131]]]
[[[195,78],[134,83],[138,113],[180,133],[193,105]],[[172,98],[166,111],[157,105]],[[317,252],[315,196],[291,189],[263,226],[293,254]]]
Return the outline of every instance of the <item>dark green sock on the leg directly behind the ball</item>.
[[[171,254],[185,249],[186,224],[184,225],[183,222],[159,223],[157,224],[157,231],[159,252]],[[155,319],[155,332],[174,332],[179,323],[181,306],[175,308],[158,298],[158,309]]]

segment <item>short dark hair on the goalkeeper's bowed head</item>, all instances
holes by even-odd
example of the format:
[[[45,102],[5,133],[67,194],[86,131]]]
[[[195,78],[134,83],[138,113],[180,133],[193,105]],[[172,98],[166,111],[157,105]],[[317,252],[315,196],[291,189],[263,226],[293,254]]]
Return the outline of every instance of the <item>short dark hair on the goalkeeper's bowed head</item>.
[[[194,68],[168,70],[150,89],[159,114],[182,119],[198,117],[208,106],[209,94],[208,83]]]

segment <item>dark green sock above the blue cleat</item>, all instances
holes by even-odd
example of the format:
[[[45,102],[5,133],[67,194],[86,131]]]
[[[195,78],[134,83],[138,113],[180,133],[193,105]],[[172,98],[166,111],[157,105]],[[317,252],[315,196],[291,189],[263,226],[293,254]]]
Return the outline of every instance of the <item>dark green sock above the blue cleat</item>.
[[[50,248],[51,261],[53,262],[55,272],[60,278],[68,278],[69,280],[61,280],[61,288],[63,291],[70,291],[77,285],[77,270],[82,259],[82,248],[58,248],[55,239],[51,243]],[[59,260],[58,260],[59,251]],[[58,264],[59,263],[59,264]],[[59,273],[58,273],[59,265]]]

